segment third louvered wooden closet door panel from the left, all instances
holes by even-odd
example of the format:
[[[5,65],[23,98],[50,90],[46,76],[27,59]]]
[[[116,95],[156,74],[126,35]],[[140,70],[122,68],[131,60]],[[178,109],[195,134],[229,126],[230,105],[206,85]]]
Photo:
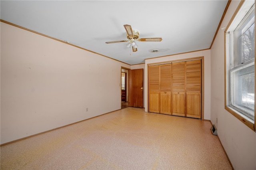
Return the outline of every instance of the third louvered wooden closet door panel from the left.
[[[172,63],[172,115],[185,116],[186,63]]]

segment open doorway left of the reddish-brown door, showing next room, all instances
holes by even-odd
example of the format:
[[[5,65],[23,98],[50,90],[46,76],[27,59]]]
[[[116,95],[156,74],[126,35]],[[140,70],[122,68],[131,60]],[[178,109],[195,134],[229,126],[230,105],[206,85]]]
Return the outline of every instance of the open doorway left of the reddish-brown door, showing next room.
[[[121,109],[129,107],[129,69],[121,68]]]

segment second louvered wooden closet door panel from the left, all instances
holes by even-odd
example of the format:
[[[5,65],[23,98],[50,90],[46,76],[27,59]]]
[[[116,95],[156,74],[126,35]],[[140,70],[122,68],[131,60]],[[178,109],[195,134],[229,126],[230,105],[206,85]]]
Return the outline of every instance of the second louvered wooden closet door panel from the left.
[[[172,64],[160,65],[160,113],[171,115]]]

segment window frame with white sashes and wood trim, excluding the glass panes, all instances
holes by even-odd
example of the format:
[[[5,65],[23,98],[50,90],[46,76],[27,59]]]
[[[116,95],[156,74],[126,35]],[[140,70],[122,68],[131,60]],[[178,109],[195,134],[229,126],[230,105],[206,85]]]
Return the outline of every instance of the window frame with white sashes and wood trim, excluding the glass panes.
[[[242,23],[242,20],[244,18],[244,16],[246,16],[248,9],[250,10],[252,7],[254,6],[255,8],[255,1],[250,1],[250,0],[246,0],[246,1],[241,1],[240,4],[238,5],[238,8],[236,9],[236,12],[234,13],[234,15],[232,16],[230,22],[228,23],[228,26],[226,27],[225,31],[224,31],[224,64],[225,64],[225,109],[231,113],[232,115],[234,115],[237,119],[239,119],[242,123],[244,123],[246,126],[248,126],[249,128],[251,128],[252,130],[254,130],[256,132],[256,125],[255,125],[255,120],[256,120],[256,114],[255,114],[255,97],[254,97],[254,120],[251,119],[253,117],[247,117],[246,114],[244,114],[244,112],[240,109],[237,109],[234,106],[231,106],[230,100],[232,99],[232,92],[231,89],[232,87],[230,87],[231,84],[231,73],[234,70],[239,69],[237,66],[233,65],[233,67],[231,67],[231,63],[233,60],[230,59],[231,55],[234,56],[236,53],[236,47],[233,45],[232,41],[235,39],[235,35],[232,33],[234,32],[234,30],[236,30],[236,28],[238,27],[238,25],[240,23]],[[254,23],[255,23],[255,10],[254,10]],[[255,34],[255,30],[254,30],[254,34]],[[254,41],[255,41],[255,37],[254,37]],[[254,42],[255,45],[255,42]],[[255,51],[255,46],[254,46],[254,51]],[[250,65],[252,63],[254,63],[254,74],[255,74],[255,59],[250,59],[249,62],[245,62],[244,64],[240,64],[240,67],[242,66],[246,66],[246,65]],[[255,76],[254,76],[254,82],[255,82]],[[254,85],[254,94],[256,92],[256,85]]]

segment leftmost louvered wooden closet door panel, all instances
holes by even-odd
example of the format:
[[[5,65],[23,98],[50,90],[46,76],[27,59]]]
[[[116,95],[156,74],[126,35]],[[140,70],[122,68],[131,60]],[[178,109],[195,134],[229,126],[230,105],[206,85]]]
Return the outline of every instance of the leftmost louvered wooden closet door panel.
[[[160,110],[160,89],[159,89],[159,65],[150,65],[148,67],[149,75],[149,112],[159,113]]]

